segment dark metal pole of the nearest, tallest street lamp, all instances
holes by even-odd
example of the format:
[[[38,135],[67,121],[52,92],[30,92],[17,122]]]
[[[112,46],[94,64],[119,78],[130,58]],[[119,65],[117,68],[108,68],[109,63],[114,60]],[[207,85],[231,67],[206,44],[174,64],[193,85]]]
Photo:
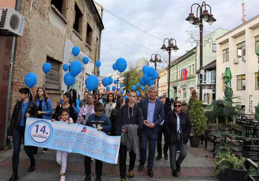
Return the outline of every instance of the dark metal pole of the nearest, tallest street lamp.
[[[200,8],[200,15],[202,14],[202,8]],[[202,17],[200,18],[200,71],[202,70],[202,57],[203,57],[203,24]],[[202,100],[202,75],[200,74],[200,100]]]

